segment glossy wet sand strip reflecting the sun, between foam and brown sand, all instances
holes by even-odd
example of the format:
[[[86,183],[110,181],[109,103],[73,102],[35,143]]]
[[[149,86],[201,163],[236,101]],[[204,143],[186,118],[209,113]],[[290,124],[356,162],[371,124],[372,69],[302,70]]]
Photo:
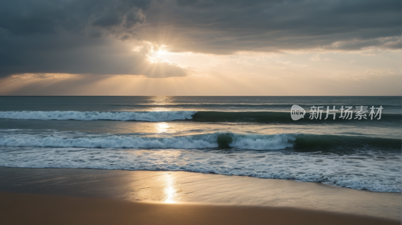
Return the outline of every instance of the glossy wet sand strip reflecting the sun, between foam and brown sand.
[[[232,206],[236,208],[239,205],[247,208],[253,205],[268,206],[270,207],[269,210],[273,210],[274,208],[283,209],[283,207],[292,207],[292,209],[287,208],[287,211],[319,209],[328,213],[347,212],[355,215],[394,219],[394,221],[400,220],[400,206],[402,202],[401,193],[370,192],[313,182],[182,171],[0,167],[0,191],[92,197],[91,199],[114,198],[125,200],[124,204],[127,204],[129,201],[131,203],[134,202],[133,204],[136,202],[144,203],[145,201],[165,203],[197,202],[203,204],[220,204],[221,206],[219,207],[226,205],[225,207],[229,208]],[[5,194],[2,194],[2,196],[5,196]],[[41,198],[40,202],[42,202],[42,198],[47,195],[35,196],[41,196],[38,198]],[[17,198],[21,199],[22,202],[20,204],[29,204],[29,202],[23,202],[23,197]],[[67,199],[65,198],[65,200]],[[49,204],[55,201],[50,199],[50,195],[48,200]],[[106,199],[103,200],[106,201]],[[89,202],[88,204],[92,203]],[[181,207],[172,205],[182,205],[182,203],[168,204],[169,207]],[[2,203],[2,207],[5,207],[5,204]],[[139,206],[134,205],[132,207]],[[207,206],[204,205],[203,207]],[[209,207],[212,206],[208,206],[207,208]],[[235,209],[227,208],[227,210]],[[261,214],[264,213],[261,212]],[[181,216],[181,214],[179,213],[175,216]],[[191,217],[190,214],[188,216],[188,218]]]

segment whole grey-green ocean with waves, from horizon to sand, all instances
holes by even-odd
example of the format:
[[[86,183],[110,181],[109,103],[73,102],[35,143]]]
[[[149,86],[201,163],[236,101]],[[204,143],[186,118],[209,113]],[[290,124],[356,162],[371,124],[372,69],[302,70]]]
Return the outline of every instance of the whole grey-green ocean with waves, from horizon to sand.
[[[306,110],[293,120],[290,109]],[[322,118],[310,119],[322,106]],[[327,106],[339,110],[327,119]],[[351,119],[340,118],[351,106]],[[356,107],[367,106],[358,119]],[[162,170],[402,192],[401,97],[1,96],[0,166]],[[371,115],[370,107],[382,108]],[[379,116],[381,116],[380,119]]]

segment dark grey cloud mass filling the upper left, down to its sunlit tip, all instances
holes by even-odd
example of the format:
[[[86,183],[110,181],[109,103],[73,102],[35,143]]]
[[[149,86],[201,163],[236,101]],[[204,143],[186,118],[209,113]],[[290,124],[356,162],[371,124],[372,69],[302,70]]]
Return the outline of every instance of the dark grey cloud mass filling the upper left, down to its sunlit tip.
[[[186,76],[188,70],[178,64],[151,62],[151,43],[121,41],[133,39],[145,22],[138,8],[146,9],[144,2],[0,3],[0,77],[26,73]],[[132,51],[134,44],[141,51]]]

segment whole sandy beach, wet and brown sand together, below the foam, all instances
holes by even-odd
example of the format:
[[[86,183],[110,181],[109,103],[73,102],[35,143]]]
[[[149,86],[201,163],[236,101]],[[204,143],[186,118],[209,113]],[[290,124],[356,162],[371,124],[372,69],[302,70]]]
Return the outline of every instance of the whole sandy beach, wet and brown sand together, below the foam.
[[[69,211],[69,213],[81,213],[80,215],[76,214],[76,216],[73,216],[74,218],[70,219],[89,216],[90,213],[96,214],[96,211],[97,215],[104,215],[105,213],[102,211],[109,211],[109,215],[111,216],[109,219],[112,219],[112,217],[121,217],[121,224],[125,224],[123,222],[124,219],[128,219],[130,216],[139,213],[136,211],[136,208],[139,207],[149,207],[147,213],[155,212],[153,207],[161,207],[160,210],[166,210],[163,213],[167,213],[167,211],[170,213],[166,215],[157,213],[158,215],[152,216],[156,216],[153,219],[162,219],[162,217],[165,218],[164,216],[172,216],[170,219],[174,219],[177,216],[180,218],[188,216],[187,219],[201,219],[199,223],[193,224],[205,224],[209,221],[209,217],[198,213],[196,213],[197,215],[193,215],[191,214],[194,213],[191,212],[192,210],[205,210],[207,214],[213,211],[222,211],[222,213],[218,213],[219,215],[214,215],[221,216],[221,218],[229,216],[225,213],[237,214],[236,211],[240,210],[242,211],[241,214],[255,213],[253,214],[253,217],[256,216],[255,219],[257,219],[255,222],[262,221],[258,219],[266,218],[264,216],[270,213],[273,213],[276,217],[280,217],[281,213],[295,213],[294,217],[288,219],[295,219],[297,218],[297,213],[301,213],[306,217],[299,217],[297,218],[298,221],[307,221],[308,218],[310,219],[309,216],[313,216],[314,218],[319,218],[320,216],[328,218],[328,216],[332,216],[335,219],[331,220],[334,221],[333,224],[335,224],[335,221],[350,221],[350,224],[356,224],[352,222],[355,221],[352,218],[362,219],[361,222],[363,222],[364,219],[368,218],[365,216],[369,216],[370,219],[367,221],[374,223],[364,224],[386,224],[382,222],[386,222],[387,220],[379,223],[375,221],[380,220],[375,220],[374,218],[390,219],[389,224],[396,224],[396,221],[400,220],[400,202],[402,200],[401,193],[354,190],[313,182],[260,179],[255,177],[183,171],[1,167],[0,180],[2,202],[14,202],[11,205],[8,203],[2,204],[2,207],[10,211],[10,213],[4,213],[5,215],[11,215],[12,213],[16,213],[16,211],[24,210],[20,208],[21,205],[28,207],[27,205],[36,204],[40,201],[46,207],[50,207],[50,205],[61,207],[59,209],[56,209],[57,207],[50,207],[53,208],[52,210],[56,214],[65,212],[65,210]],[[14,209],[12,207],[13,204],[15,205]],[[88,206],[84,209],[86,213],[80,212],[77,209],[72,210],[72,208],[75,208],[72,205],[80,204],[97,205],[98,209],[95,210],[92,206]],[[127,208],[120,211],[112,207],[115,204],[120,205],[117,208],[126,208],[126,206]],[[70,208],[68,209],[68,207]],[[34,208],[37,209],[31,208],[28,210],[27,208],[25,210],[39,210],[42,213],[49,213],[47,209],[42,210],[42,206]],[[111,210],[111,208],[114,209]],[[183,208],[185,208],[184,211]],[[130,214],[130,210],[136,212]],[[123,214],[126,215],[123,216]],[[242,219],[246,218],[248,216],[236,218],[235,220],[241,224],[240,221],[244,221]],[[287,217],[284,216],[284,218]],[[45,222],[46,220],[39,217],[37,219],[37,221],[41,222]],[[49,221],[54,222],[56,220],[50,219]],[[173,222],[174,220],[169,221],[172,221],[171,224],[177,222]],[[184,219],[182,224],[185,224],[186,221],[188,220]],[[284,223],[273,224],[290,224],[292,220],[283,220],[282,218],[280,221]],[[143,223],[139,224],[147,223],[158,224],[156,220],[148,221],[146,219],[143,220]],[[217,222],[216,224],[219,223]]]

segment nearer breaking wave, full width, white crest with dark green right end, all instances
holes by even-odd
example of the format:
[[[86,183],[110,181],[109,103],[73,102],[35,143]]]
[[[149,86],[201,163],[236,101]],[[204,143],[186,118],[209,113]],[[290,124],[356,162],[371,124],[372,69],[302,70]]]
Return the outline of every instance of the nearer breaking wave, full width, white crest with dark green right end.
[[[84,135],[82,135],[84,136]],[[397,139],[362,136],[309,134],[235,134],[216,132],[176,137],[102,136],[63,137],[31,134],[1,135],[0,146],[85,147],[85,148],[240,148],[250,150],[279,150],[288,147],[304,151],[337,149],[339,147],[370,147],[388,151],[400,149]]]

